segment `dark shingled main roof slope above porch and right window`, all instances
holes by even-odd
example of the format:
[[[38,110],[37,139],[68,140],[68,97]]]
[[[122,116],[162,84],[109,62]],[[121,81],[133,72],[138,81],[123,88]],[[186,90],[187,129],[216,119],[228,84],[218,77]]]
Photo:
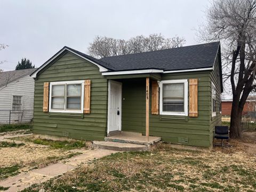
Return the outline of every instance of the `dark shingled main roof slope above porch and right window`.
[[[149,51],[102,58],[102,66],[108,69],[136,70],[163,69],[184,70],[213,67],[220,42],[183,46],[173,49]]]

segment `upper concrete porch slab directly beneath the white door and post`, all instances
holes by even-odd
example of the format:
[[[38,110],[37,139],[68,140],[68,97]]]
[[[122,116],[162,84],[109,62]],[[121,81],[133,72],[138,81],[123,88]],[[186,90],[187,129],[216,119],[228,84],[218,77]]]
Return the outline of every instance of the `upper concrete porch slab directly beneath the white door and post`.
[[[149,136],[149,141],[146,136],[141,133],[122,131],[110,137],[106,137],[105,141],[119,142],[119,143],[134,143],[139,145],[154,145],[154,143],[161,141],[161,137]]]

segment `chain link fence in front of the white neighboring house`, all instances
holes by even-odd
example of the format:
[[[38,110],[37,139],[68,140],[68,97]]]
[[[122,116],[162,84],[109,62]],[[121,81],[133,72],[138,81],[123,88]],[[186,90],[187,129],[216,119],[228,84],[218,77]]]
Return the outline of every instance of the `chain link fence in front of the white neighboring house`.
[[[0,110],[0,124],[29,123],[33,110]]]

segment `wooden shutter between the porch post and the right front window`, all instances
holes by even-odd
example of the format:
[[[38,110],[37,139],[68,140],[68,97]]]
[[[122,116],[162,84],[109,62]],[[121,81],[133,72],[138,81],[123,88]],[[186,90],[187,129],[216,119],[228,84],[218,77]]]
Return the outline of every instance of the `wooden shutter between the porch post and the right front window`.
[[[151,92],[151,114],[158,115],[159,110],[159,89],[157,81],[152,81]]]

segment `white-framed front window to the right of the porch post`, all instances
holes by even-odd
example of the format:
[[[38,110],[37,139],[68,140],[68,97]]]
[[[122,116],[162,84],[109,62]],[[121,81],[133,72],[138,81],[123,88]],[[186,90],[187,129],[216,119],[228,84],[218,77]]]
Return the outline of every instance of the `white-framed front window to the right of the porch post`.
[[[160,115],[188,116],[188,80],[161,81]]]

